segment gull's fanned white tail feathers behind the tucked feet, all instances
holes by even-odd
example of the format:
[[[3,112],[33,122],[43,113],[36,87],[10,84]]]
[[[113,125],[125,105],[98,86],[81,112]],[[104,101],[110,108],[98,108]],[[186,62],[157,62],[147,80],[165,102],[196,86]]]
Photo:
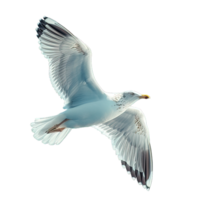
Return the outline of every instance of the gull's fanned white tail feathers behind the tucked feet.
[[[46,117],[34,117],[33,120],[28,124],[30,127],[31,137],[35,141],[39,141],[43,145],[48,146],[59,146],[65,138],[72,132],[71,128],[67,128],[64,124],[59,128],[49,131],[52,127],[62,122],[66,116],[62,112],[55,115]]]

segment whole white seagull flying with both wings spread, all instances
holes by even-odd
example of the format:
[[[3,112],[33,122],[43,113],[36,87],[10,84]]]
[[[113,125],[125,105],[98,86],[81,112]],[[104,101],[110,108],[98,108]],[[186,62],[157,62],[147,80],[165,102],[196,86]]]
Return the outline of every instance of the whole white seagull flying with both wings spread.
[[[42,145],[60,146],[72,129],[92,128],[109,140],[111,149],[131,180],[152,189],[151,131],[145,112],[133,106],[152,100],[136,90],[106,92],[93,72],[93,50],[68,27],[42,16],[34,28],[36,43],[48,63],[48,81],[62,100],[55,115],[33,117],[31,137]]]

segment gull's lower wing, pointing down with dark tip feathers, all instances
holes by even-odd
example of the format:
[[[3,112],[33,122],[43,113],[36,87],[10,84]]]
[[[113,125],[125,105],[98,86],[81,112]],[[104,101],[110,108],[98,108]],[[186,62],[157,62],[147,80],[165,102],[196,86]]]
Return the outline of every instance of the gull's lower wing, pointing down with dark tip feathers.
[[[142,109],[131,106],[120,116],[92,128],[109,139],[111,149],[130,178],[150,191],[152,145],[148,120]]]

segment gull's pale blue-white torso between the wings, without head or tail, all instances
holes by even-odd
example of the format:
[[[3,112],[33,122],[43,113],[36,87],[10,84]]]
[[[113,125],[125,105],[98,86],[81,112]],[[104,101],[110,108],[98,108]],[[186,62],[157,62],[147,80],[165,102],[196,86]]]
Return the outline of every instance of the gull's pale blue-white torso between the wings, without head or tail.
[[[72,129],[81,129],[105,123],[126,111],[129,105],[126,105],[125,103],[125,99],[121,92],[107,93],[104,98],[98,101],[85,103],[61,111],[59,113],[60,120],[69,120],[60,127],[65,126]]]

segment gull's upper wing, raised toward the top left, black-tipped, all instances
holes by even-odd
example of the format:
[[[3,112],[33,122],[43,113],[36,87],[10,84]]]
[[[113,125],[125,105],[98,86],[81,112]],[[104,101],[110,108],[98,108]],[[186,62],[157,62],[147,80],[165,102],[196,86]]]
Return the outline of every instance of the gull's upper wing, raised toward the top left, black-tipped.
[[[50,17],[37,22],[38,50],[47,60],[49,83],[65,108],[105,96],[92,71],[92,50],[70,29]]]

